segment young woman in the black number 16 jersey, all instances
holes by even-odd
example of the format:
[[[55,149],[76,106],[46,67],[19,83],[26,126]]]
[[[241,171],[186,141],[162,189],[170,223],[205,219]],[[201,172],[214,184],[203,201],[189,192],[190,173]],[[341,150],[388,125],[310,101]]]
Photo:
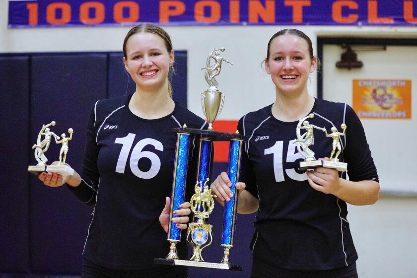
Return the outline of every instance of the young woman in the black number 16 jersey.
[[[186,269],[154,265],[169,251],[164,226],[168,213],[177,135],[187,124],[202,129],[206,122],[171,98],[168,81],[174,63],[169,35],[142,24],[127,34],[126,70],[136,83],[133,94],[100,100],[91,110],[81,175],[42,173],[48,186],[67,183],[82,202],[94,205],[84,244],[82,278],[185,277]],[[187,182],[195,182],[197,142],[190,140]],[[188,188],[193,188],[188,186]],[[164,202],[165,200],[165,202]],[[187,227],[189,203],[174,211],[181,229]],[[185,241],[177,245],[186,257]]]

